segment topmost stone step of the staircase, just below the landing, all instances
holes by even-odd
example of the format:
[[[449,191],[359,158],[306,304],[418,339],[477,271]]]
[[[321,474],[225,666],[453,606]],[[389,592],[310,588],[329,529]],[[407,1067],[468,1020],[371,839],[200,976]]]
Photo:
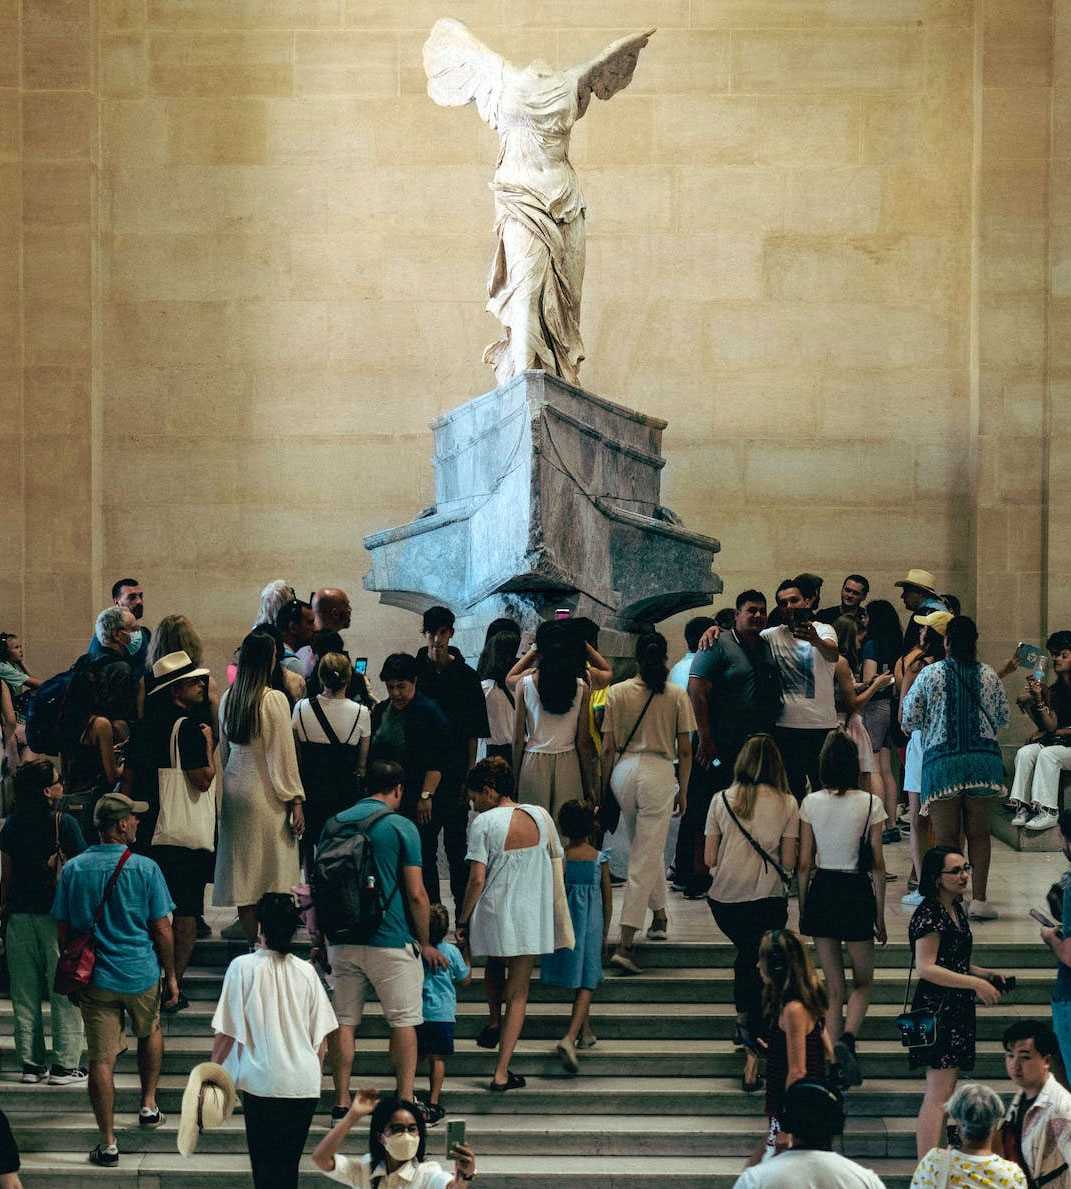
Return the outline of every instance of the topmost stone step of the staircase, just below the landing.
[[[903,910],[907,913],[908,910]],[[713,926],[711,926],[713,929]],[[994,942],[985,939],[985,930],[991,927],[990,923],[976,921],[975,946],[976,957],[984,964],[1001,970],[1004,967],[1038,967],[1042,969],[1054,969],[1052,955],[1044,945],[1022,945],[1012,942]],[[672,924],[670,924],[672,929]],[[641,962],[655,969],[679,969],[682,967],[731,968],[736,957],[736,950],[727,942],[645,942],[641,935],[637,938],[637,949],[642,955]],[[228,942],[220,937],[207,938],[197,942],[194,948],[191,965],[194,967],[226,967],[232,958],[248,952],[248,946],[244,942]],[[308,957],[308,943],[297,944],[294,952],[300,957]],[[911,954],[906,943],[890,942],[888,945],[880,945],[874,951],[874,963],[877,969],[907,970]],[[484,965],[483,958],[474,962],[477,970]]]

